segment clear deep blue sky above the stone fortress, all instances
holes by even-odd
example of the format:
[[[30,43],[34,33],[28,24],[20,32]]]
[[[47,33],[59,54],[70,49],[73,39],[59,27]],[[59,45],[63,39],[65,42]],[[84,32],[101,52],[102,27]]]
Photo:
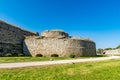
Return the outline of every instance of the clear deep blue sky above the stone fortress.
[[[119,0],[0,0],[0,19],[39,33],[62,29],[97,48],[120,44]]]

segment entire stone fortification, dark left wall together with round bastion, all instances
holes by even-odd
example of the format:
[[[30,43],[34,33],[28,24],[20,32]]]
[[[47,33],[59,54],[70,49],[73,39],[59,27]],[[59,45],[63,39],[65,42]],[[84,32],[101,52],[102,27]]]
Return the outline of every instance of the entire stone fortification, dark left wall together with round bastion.
[[[24,53],[26,56],[95,56],[96,46],[89,39],[73,38],[62,30],[46,30],[38,36],[37,33],[0,21],[0,55],[6,53]]]

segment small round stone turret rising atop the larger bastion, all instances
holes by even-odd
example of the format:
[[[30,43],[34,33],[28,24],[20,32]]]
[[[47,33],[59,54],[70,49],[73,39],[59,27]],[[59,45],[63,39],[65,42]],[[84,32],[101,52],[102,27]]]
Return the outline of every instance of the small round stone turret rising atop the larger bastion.
[[[48,37],[48,38],[64,38],[69,37],[68,33],[62,30],[46,30],[44,31],[41,36]]]

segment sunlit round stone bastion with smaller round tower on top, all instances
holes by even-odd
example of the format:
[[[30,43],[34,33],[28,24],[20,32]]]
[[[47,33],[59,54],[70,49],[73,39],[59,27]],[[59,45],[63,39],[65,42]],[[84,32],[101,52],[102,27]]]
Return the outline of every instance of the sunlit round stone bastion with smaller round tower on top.
[[[23,52],[31,56],[95,56],[95,42],[88,38],[72,38],[60,30],[47,30],[41,36],[26,36]]]

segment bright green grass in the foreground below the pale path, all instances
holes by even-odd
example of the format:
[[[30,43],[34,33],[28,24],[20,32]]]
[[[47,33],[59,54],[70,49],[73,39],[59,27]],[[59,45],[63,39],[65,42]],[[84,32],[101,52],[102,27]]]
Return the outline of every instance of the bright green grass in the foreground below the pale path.
[[[0,69],[0,80],[119,80],[120,59]]]

